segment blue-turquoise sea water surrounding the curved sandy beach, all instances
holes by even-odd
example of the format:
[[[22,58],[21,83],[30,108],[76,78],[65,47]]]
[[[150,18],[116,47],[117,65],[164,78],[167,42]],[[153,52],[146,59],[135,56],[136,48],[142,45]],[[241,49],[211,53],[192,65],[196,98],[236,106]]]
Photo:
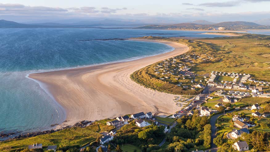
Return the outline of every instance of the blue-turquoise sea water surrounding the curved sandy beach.
[[[47,92],[46,86],[39,86],[27,78],[27,74],[125,61],[174,49],[160,43],[95,39],[146,35],[219,37],[197,33],[202,32],[91,28],[0,29],[0,132],[42,131],[65,120],[64,109]]]

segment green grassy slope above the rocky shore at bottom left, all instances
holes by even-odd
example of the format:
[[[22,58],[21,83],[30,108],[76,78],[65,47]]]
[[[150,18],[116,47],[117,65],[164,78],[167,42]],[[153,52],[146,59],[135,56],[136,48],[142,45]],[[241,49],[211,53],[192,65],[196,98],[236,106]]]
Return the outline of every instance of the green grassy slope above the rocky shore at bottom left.
[[[42,143],[43,146],[49,145],[79,145],[95,141],[100,137],[100,132],[112,130],[112,126],[104,124],[90,125],[85,128],[73,127],[63,129],[51,134],[44,134],[35,137],[20,138],[11,141],[1,141],[0,151],[20,150],[33,143]]]

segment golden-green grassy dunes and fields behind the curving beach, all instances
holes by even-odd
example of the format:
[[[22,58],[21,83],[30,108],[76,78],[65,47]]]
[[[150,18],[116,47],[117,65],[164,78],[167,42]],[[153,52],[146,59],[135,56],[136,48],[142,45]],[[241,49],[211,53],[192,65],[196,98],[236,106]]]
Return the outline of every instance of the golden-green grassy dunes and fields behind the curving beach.
[[[185,64],[191,67],[192,72],[198,74],[196,82],[191,83],[191,79],[175,80],[175,77],[178,75],[177,73],[170,75],[170,78],[160,80],[159,78],[161,78],[162,75],[155,74],[154,71],[154,67],[162,63],[162,61],[160,61],[131,74],[131,78],[135,82],[145,87],[178,95],[195,95],[201,90],[183,89],[176,85],[179,82],[189,87],[194,83],[204,84],[202,75],[209,74],[211,71],[246,73],[251,74],[256,80],[270,82],[270,36],[245,34],[241,36],[198,40],[148,36],[142,37],[141,39],[166,40],[186,44],[190,47],[190,51],[187,52],[185,56],[195,54],[200,57],[192,60],[194,61],[192,63],[186,63],[180,59],[177,60],[177,64]],[[181,56],[176,57],[179,58]],[[201,58],[206,58],[207,60],[202,60]],[[170,70],[172,69],[173,68]],[[223,81],[227,79],[227,77],[220,77],[220,80]],[[202,82],[198,82],[199,80]],[[228,80],[231,81],[230,78]],[[266,90],[269,90],[268,88],[266,88]]]

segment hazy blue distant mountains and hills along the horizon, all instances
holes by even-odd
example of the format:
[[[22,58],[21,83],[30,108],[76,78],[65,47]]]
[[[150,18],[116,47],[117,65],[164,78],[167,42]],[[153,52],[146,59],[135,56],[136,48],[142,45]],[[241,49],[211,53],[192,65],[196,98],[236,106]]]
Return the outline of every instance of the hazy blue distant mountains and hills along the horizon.
[[[269,29],[269,26],[260,25],[253,22],[235,21],[213,23],[206,20],[197,20],[189,23],[148,25],[137,21],[118,21],[111,19],[84,20],[77,23],[17,23],[13,21],[0,20],[0,28],[53,28],[53,27],[73,27],[73,28],[137,28],[137,29],[180,29],[180,30],[215,30],[222,27],[222,30],[243,30],[243,29]]]

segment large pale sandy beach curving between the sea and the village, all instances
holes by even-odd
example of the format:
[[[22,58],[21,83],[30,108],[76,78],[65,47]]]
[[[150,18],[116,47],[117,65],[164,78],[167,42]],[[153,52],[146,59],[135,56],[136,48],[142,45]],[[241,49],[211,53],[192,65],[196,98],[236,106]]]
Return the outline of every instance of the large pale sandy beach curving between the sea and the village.
[[[185,53],[189,47],[168,41],[130,40],[159,42],[175,49],[133,61],[29,75],[30,78],[44,83],[65,109],[67,121],[62,125],[74,125],[81,120],[115,118],[136,112],[151,111],[159,115],[169,115],[180,110],[181,107],[173,101],[176,95],[147,89],[133,82],[129,76],[147,65]]]

